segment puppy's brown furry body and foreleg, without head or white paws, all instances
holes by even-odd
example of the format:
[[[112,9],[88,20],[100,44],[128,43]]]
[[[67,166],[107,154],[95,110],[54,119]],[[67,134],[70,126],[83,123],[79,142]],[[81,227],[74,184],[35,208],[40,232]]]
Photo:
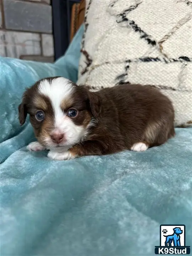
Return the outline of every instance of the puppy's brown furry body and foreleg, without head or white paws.
[[[149,147],[164,144],[175,135],[171,101],[157,89],[119,85],[89,92],[97,125],[86,141],[70,149],[73,155],[103,155],[130,149],[143,142]],[[91,97],[90,97],[91,95]]]

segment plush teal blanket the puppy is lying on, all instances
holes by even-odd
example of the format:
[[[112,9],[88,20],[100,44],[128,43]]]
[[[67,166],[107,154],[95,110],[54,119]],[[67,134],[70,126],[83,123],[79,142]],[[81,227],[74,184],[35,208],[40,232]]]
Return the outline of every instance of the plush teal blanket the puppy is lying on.
[[[81,36],[55,64],[1,58],[1,255],[154,255],[160,224],[185,224],[192,245],[192,128],[145,152],[52,161],[26,150],[22,92],[45,76],[75,81]]]

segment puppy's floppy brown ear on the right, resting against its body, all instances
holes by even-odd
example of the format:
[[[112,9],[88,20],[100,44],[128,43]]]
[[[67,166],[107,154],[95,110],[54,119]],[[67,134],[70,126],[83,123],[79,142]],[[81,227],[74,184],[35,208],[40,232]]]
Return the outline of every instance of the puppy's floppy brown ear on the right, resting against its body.
[[[91,112],[95,118],[98,118],[101,113],[101,99],[96,92],[88,91],[89,105]]]

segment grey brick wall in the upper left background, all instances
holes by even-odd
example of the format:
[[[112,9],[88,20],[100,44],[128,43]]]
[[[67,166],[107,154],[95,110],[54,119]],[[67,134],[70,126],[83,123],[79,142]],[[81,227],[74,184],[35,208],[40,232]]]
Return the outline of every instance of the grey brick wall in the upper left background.
[[[0,0],[0,55],[54,61],[50,0]]]

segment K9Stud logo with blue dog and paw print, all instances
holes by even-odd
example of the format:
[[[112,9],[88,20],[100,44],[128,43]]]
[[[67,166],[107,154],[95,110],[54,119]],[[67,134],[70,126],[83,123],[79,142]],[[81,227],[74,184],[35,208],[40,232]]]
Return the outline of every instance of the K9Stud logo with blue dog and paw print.
[[[155,246],[155,254],[190,254],[185,225],[160,225],[160,246]]]

